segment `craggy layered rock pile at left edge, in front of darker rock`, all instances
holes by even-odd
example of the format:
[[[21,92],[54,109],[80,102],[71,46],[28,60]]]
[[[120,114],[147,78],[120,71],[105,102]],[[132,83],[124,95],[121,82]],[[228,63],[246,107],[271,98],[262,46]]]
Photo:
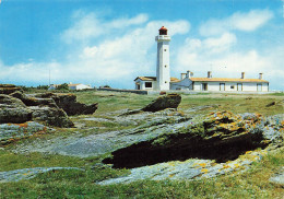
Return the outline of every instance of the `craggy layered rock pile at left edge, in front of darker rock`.
[[[69,128],[73,122],[52,98],[28,97],[16,91],[0,94],[0,124],[23,124],[35,120],[49,126]]]

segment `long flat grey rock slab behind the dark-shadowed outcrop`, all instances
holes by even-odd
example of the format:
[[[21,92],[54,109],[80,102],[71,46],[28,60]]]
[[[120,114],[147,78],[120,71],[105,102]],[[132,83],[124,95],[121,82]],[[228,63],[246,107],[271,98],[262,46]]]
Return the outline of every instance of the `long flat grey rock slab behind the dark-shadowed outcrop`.
[[[162,133],[171,132],[190,124],[188,118],[181,116],[164,116],[165,112],[159,114],[158,116],[157,113],[154,114],[155,117],[150,114],[142,114],[121,118],[121,122],[134,121],[138,117],[147,120],[147,122],[133,129],[104,133],[96,133],[96,130],[94,130],[93,134],[85,137],[76,134],[68,138],[58,137],[44,141],[37,140],[28,144],[19,144],[14,152],[48,152],[80,157],[95,156],[151,140]],[[166,124],[168,121],[171,124]]]

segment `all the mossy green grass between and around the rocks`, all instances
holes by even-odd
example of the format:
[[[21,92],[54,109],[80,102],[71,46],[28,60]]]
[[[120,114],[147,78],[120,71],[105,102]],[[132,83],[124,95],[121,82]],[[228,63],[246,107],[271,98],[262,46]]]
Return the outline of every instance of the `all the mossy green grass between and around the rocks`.
[[[137,109],[156,98],[155,95],[137,95],[109,92],[80,92],[78,101],[86,104],[98,102],[98,110],[92,117],[106,118],[106,113],[126,108]],[[283,104],[271,107],[271,102],[283,101],[283,95],[236,95],[206,94],[182,95],[179,110],[197,108],[190,114],[209,114],[213,110],[239,113],[259,113],[264,116],[283,114]],[[201,107],[201,108],[200,108]],[[187,114],[187,113],[186,113]],[[82,117],[72,117],[81,121]],[[105,127],[96,133],[125,127],[109,122],[86,122],[87,127]],[[57,129],[51,134],[72,136],[90,133],[87,129]],[[31,138],[35,139],[35,138]],[[19,144],[19,142],[14,143]],[[73,166],[85,171],[58,171],[40,174],[37,177],[17,183],[0,184],[0,198],[282,198],[283,187],[269,182],[269,178],[284,165],[284,149],[277,149],[255,163],[241,174],[225,175],[216,178],[192,182],[152,182],[141,180],[126,185],[99,186],[96,182],[126,175],[127,169],[95,166],[103,156],[87,159],[51,155],[45,153],[17,154],[11,150],[13,144],[0,150],[0,171],[11,171],[39,166]]]

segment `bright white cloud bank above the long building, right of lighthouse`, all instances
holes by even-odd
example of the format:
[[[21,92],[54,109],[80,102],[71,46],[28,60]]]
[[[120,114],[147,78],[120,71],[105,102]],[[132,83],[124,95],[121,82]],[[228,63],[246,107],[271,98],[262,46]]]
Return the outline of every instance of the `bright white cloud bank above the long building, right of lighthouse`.
[[[272,87],[283,90],[284,47],[275,50],[267,49],[259,52],[257,49],[235,50],[236,36],[223,34],[218,38],[205,39],[187,38],[186,45],[178,49],[175,72],[190,70],[194,77],[206,77],[206,71],[213,71],[215,78],[239,78],[246,72],[246,78],[257,79],[263,72],[263,79],[269,80]]]

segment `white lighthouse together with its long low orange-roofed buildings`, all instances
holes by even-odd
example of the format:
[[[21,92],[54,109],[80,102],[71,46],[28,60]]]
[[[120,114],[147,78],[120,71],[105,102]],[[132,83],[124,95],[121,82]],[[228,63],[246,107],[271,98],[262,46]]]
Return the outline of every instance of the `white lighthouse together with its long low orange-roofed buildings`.
[[[161,27],[157,42],[157,63],[156,77],[138,77],[135,90],[190,90],[190,91],[235,91],[235,92],[268,92],[269,82],[262,79],[259,73],[258,79],[245,79],[245,72],[240,78],[212,78],[212,72],[208,72],[206,78],[193,78],[193,73],[187,71],[181,73],[180,80],[170,78],[169,68],[169,42],[170,36],[167,35],[167,28]]]

